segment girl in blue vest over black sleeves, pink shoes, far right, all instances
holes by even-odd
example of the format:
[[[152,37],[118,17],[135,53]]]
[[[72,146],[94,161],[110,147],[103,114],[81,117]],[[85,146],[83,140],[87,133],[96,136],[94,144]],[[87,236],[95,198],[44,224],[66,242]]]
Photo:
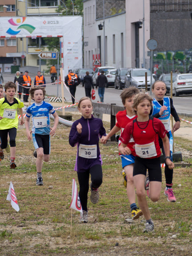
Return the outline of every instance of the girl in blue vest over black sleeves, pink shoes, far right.
[[[169,97],[164,97],[166,93],[166,84],[163,81],[157,80],[152,85],[152,92],[155,95],[153,99],[153,107],[150,112],[150,115],[159,118],[161,122],[164,124],[165,129],[168,131],[167,136],[169,138],[170,144],[170,156],[172,160],[172,148],[173,148],[173,137],[172,132],[175,132],[180,128],[180,119],[177,115],[176,109],[173,106],[173,100]],[[174,117],[176,123],[173,126],[171,131],[170,127],[170,114]],[[161,138],[159,138],[160,148],[165,157],[164,147]],[[174,192],[172,191],[172,179],[173,179],[173,169],[169,169],[167,163],[165,162],[165,181],[166,188],[164,190],[164,195],[167,196],[168,202],[176,202],[176,198],[174,196]],[[147,178],[148,180],[148,178]],[[148,189],[148,182],[146,182],[146,189]]]

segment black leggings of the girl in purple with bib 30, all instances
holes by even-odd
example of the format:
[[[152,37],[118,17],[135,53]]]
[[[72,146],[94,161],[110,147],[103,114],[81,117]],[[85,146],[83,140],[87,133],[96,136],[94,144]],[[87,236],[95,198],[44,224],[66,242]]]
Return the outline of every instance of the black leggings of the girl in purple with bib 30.
[[[80,202],[82,209],[87,211],[87,201],[88,201],[88,190],[89,190],[89,173],[91,174],[91,181],[93,188],[99,188],[102,184],[103,173],[100,164],[92,166],[85,172],[77,172],[79,184],[80,184]]]

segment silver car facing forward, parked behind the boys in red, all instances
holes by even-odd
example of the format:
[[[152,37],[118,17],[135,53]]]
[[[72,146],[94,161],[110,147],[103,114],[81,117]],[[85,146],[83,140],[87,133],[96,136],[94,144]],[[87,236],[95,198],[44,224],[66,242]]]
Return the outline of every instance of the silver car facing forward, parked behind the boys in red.
[[[145,89],[145,72],[147,72],[148,90],[151,84],[151,72],[146,68],[130,68],[125,76],[125,88],[136,86],[138,89]],[[155,79],[152,77],[152,84]]]

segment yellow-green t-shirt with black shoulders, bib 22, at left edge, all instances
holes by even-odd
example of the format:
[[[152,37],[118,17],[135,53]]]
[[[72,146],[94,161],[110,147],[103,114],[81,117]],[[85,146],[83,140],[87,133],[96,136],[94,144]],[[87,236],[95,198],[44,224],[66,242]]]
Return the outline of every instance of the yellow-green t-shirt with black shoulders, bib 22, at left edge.
[[[0,99],[0,116],[4,117],[0,120],[0,130],[18,128],[18,116],[16,109],[23,108],[24,103],[14,98],[13,103],[9,103],[7,98]]]

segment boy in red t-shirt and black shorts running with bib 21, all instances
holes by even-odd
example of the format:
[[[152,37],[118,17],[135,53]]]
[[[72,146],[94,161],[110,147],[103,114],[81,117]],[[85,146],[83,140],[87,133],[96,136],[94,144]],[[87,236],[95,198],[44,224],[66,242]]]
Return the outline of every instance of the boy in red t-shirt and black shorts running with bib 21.
[[[147,169],[150,180],[150,199],[153,202],[160,199],[162,176],[159,136],[162,138],[164,144],[165,161],[168,164],[168,168],[172,169],[174,167],[174,164],[170,160],[169,140],[168,136],[166,136],[167,131],[159,119],[149,116],[151,108],[152,98],[150,96],[147,94],[136,95],[133,109],[137,113],[137,118],[125,127],[123,134],[120,136],[121,144],[119,147],[120,154],[131,154],[131,150],[127,147],[127,144],[131,136],[135,140],[136,158],[133,168],[133,181],[136,187],[139,206],[146,219],[144,232],[151,232],[154,229],[144,188]]]

